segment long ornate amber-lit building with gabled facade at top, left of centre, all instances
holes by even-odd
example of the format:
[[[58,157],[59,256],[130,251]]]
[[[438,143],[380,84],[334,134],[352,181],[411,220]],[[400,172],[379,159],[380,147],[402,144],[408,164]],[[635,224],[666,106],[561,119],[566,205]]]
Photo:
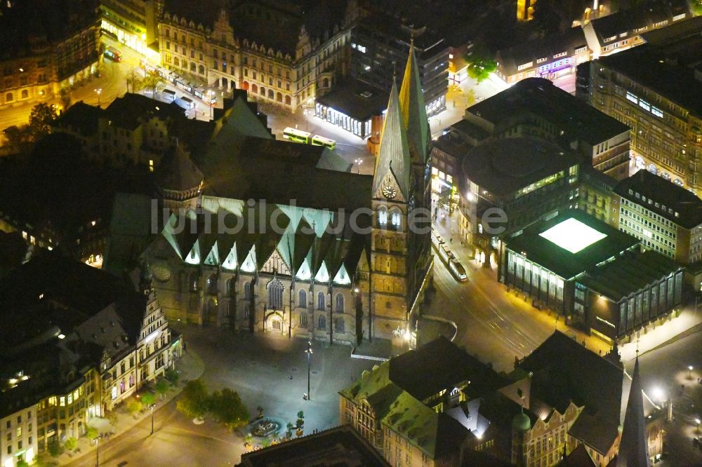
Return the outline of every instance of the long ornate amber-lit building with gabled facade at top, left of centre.
[[[347,72],[354,0],[237,1],[230,8],[166,2],[159,22],[161,62],[223,91],[295,111]],[[275,25],[275,27],[270,27]]]

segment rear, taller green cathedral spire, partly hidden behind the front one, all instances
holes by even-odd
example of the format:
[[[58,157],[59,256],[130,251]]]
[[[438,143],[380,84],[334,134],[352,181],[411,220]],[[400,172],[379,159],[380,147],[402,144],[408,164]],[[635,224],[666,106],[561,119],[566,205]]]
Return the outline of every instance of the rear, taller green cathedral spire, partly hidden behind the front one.
[[[414,41],[409,46],[409,57],[399,91],[399,104],[402,108],[404,128],[409,135],[412,162],[424,165],[427,161],[431,132],[427,108],[424,104],[422,82],[419,79],[417,57],[414,53]]]

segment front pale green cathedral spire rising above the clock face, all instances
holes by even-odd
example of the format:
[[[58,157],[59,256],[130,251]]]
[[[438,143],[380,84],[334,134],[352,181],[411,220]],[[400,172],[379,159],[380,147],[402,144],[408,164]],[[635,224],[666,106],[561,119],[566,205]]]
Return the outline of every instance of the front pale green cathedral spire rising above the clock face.
[[[383,123],[383,138],[380,140],[380,152],[376,158],[376,172],[373,177],[373,196],[385,186],[388,176],[394,179],[402,197],[409,199],[409,175],[411,161],[407,133],[402,124],[402,113],[397,95],[397,85],[392,83],[388,112]]]

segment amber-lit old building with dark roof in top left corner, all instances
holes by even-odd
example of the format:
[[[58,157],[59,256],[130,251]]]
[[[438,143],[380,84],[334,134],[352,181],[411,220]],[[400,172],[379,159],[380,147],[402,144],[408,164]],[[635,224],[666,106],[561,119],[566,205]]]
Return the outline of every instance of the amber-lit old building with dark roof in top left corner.
[[[100,60],[97,2],[0,5],[0,108],[46,101],[90,78]]]

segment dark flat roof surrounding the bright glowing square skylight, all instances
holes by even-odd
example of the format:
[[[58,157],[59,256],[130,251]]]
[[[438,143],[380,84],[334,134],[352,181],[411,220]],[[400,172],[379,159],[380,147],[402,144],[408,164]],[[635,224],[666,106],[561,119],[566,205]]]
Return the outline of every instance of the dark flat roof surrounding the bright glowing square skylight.
[[[606,237],[595,241],[591,245],[571,253],[557,246],[540,234],[552,226],[574,218],[595,231],[605,234]],[[547,221],[538,222],[524,229],[522,234],[505,238],[507,248],[519,252],[532,262],[540,264],[558,276],[569,280],[584,271],[588,271],[611,257],[619,255],[625,250],[638,245],[639,241],[628,234],[618,231],[613,226],[595,219],[581,210],[566,210]]]

